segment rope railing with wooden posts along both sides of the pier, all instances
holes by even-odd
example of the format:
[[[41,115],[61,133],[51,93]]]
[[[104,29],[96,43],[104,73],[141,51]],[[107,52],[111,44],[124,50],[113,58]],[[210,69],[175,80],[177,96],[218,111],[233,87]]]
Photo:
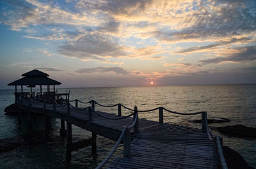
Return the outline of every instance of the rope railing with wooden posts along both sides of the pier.
[[[20,97],[18,99],[18,104],[22,105],[24,103],[24,100],[28,100],[28,99],[24,99],[22,97]],[[207,133],[207,136],[209,138],[209,140],[212,141],[212,147],[213,147],[213,167],[214,169],[216,168],[223,168],[226,169],[227,168],[227,164],[225,162],[225,158],[223,156],[223,150],[222,150],[222,143],[221,143],[221,138],[219,136],[213,136],[211,132],[209,131],[208,128],[208,123],[207,123],[207,112],[195,112],[195,113],[180,113],[180,112],[174,112],[172,110],[168,110],[164,107],[157,107],[157,108],[153,108],[150,110],[138,110],[138,108],[135,106],[134,109],[132,108],[128,108],[125,107],[124,105],[122,105],[121,103],[115,104],[115,105],[102,105],[100,103],[97,103],[97,101],[91,100],[88,102],[83,102],[80,101],[79,99],[74,99],[74,100],[70,100],[70,101],[61,101],[58,102],[56,101],[56,99],[45,99],[45,98],[40,98],[40,96],[38,98],[29,98],[29,106],[31,106],[32,102],[43,102],[44,103],[44,108],[46,103],[51,103],[52,104],[52,110],[55,112],[56,111],[56,105],[58,105],[59,107],[66,107],[67,106],[67,114],[70,114],[70,107],[75,108],[76,110],[88,110],[88,119],[89,121],[93,120],[93,116],[92,114],[97,114],[100,117],[104,117],[105,119],[111,119],[111,120],[120,120],[120,119],[125,119],[127,117],[131,117],[133,115],[133,123],[131,124],[131,126],[124,126],[124,129],[122,130],[122,133],[120,134],[120,137],[118,138],[118,141],[116,142],[115,146],[113,147],[113,150],[111,152],[109,152],[108,156],[102,161],[102,163],[100,163],[100,165],[97,168],[102,168],[102,166],[104,166],[107,162],[108,159],[111,158],[111,156],[113,155],[113,153],[116,151],[116,148],[118,147],[118,145],[120,144],[120,142],[123,140],[123,145],[124,145],[124,157],[130,157],[131,156],[131,129],[133,128],[133,132],[134,133],[139,133],[139,117],[138,117],[138,112],[152,112],[155,110],[159,111],[159,123],[163,124],[164,122],[164,116],[163,116],[163,110],[166,112],[170,112],[172,114],[178,114],[178,115],[196,115],[196,114],[201,114],[201,118],[202,118],[202,131],[204,131],[205,133]],[[75,106],[72,105],[71,103],[75,102]],[[79,103],[82,104],[90,104],[89,107],[84,107],[84,108],[79,108],[78,105]],[[100,107],[118,107],[118,117],[107,117],[106,115],[101,114],[99,111],[95,110],[95,105],[99,105]],[[132,114],[126,115],[126,116],[122,116],[122,107],[127,109],[127,110],[131,110]]]

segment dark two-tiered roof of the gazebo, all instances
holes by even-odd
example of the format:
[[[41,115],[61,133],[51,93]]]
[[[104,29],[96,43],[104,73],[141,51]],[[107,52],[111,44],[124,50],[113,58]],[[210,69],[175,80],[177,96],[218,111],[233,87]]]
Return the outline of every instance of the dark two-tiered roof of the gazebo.
[[[8,85],[60,85],[61,82],[48,77],[46,73],[39,70],[32,70],[22,74],[22,78],[15,80]]]

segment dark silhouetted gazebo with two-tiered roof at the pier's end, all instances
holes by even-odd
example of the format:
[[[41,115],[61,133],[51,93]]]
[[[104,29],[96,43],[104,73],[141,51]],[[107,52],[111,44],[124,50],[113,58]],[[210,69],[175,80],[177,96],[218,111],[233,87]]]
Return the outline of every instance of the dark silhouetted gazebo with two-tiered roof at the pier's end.
[[[61,82],[56,80],[52,80],[49,78],[47,73],[44,73],[39,70],[32,70],[27,73],[22,74],[22,78],[19,80],[15,80],[14,82],[8,85],[15,85],[15,97],[24,96],[24,97],[33,97],[35,96],[35,92],[32,92],[32,88],[36,87],[36,85],[40,85],[40,95],[42,93],[42,85],[47,85],[47,92],[44,92],[45,95],[49,96],[50,94],[55,97],[55,85],[60,85]],[[21,92],[17,92],[17,85],[20,85]],[[23,85],[30,87],[30,92],[23,92]],[[53,85],[53,91],[50,91],[50,86]]]

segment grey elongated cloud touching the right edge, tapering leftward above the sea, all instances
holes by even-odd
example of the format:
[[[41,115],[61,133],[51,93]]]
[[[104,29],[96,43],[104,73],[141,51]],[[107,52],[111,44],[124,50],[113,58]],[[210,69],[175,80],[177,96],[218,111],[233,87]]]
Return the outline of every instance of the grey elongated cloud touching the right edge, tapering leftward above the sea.
[[[256,46],[238,47],[235,52],[224,54],[225,57],[201,60],[202,64],[219,64],[221,62],[256,61]]]

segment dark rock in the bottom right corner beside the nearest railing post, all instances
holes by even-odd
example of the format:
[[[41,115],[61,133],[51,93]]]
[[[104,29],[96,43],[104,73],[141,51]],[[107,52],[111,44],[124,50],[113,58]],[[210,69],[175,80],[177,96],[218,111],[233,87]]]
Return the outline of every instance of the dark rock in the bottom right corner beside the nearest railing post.
[[[229,147],[223,146],[223,154],[228,169],[255,169],[252,166],[249,166],[238,152],[230,149]]]

